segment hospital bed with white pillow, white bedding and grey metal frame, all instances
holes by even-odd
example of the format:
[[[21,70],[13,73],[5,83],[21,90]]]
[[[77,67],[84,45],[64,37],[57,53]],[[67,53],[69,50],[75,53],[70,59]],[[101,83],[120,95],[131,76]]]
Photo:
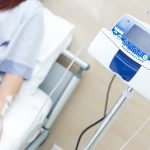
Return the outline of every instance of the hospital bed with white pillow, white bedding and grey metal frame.
[[[73,25],[47,9],[44,15],[45,43],[39,58],[39,62],[43,63],[42,70],[35,72],[30,82],[37,88],[30,88],[26,82],[21,91],[27,88],[28,92],[18,94],[7,111],[0,150],[36,150],[47,139],[54,121],[77,87],[82,72],[89,69],[87,63],[67,50],[74,35]],[[77,69],[67,70],[57,61],[60,56],[72,62]]]

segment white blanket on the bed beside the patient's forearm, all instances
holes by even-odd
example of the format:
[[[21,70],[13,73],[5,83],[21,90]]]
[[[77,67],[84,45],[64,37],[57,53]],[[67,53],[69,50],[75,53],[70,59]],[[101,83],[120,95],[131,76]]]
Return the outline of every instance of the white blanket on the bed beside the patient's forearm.
[[[51,99],[46,99],[47,95],[40,89],[32,95],[24,93],[18,95],[3,121],[0,150],[20,150],[19,146],[25,139],[30,141],[29,139],[41,126],[52,106]],[[42,108],[45,102],[46,105]],[[42,111],[39,113],[41,108]]]

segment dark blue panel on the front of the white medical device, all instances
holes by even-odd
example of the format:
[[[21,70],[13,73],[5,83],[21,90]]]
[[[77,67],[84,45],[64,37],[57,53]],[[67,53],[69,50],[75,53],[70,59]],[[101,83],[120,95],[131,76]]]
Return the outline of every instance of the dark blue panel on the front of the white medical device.
[[[130,81],[140,69],[141,65],[119,50],[111,61],[109,67],[112,71],[119,74],[125,81]]]

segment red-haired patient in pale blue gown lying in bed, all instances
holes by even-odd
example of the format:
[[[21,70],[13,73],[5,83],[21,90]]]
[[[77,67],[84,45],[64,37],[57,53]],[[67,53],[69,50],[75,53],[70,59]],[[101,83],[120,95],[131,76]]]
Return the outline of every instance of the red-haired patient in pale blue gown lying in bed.
[[[7,108],[13,99],[18,98],[17,94],[25,80],[32,78],[43,28],[43,6],[40,1],[0,0],[1,134]]]

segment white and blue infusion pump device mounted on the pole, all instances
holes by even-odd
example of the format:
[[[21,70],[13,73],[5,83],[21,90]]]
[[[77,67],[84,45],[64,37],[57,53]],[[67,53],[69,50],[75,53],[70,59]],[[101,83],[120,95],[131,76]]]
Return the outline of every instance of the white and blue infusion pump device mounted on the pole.
[[[124,15],[111,29],[102,28],[88,52],[130,87],[150,99],[150,28]]]

